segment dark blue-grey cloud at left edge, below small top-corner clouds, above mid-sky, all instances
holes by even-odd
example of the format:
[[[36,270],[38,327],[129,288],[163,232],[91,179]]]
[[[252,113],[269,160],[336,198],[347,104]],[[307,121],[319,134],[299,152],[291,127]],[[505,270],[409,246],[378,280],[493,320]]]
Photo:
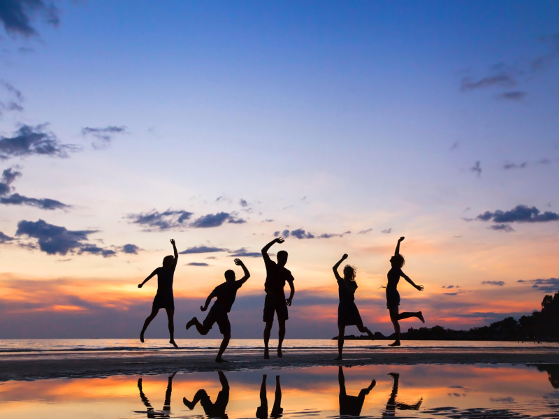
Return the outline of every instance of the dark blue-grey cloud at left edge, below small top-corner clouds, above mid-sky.
[[[22,125],[12,137],[0,136],[0,160],[34,154],[52,157],[67,157],[68,152],[80,150],[78,145],[60,144],[52,132],[45,132],[47,124]]]

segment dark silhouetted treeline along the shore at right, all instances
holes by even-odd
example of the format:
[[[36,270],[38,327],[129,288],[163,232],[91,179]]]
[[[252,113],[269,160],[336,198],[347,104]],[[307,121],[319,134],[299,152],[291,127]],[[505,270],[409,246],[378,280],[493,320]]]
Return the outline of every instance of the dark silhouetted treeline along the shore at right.
[[[349,340],[367,340],[368,336],[346,336]],[[394,335],[384,336],[375,332],[375,339],[394,339]],[[481,328],[470,330],[433,328],[409,328],[402,333],[407,340],[497,340],[497,341],[559,341],[559,292],[546,295],[542,300],[542,310],[530,316],[522,316],[518,321],[512,317],[502,319]],[[333,338],[337,340],[337,336]]]

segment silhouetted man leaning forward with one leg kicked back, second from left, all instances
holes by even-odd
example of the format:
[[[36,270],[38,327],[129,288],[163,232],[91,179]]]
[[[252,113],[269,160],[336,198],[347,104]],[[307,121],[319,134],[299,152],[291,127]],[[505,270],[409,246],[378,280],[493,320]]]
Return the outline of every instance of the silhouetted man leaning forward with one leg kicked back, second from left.
[[[223,284],[218,285],[214,288],[214,291],[208,298],[205,300],[205,304],[200,307],[202,311],[206,311],[208,309],[208,305],[210,305],[210,301],[212,301],[213,297],[216,297],[215,303],[212,305],[208,316],[206,316],[203,323],[198,321],[198,318],[193,317],[187,323],[187,330],[192,326],[196,326],[196,330],[200,335],[207,335],[214,323],[217,323],[219,326],[219,332],[223,335],[222,344],[219,346],[219,351],[217,353],[217,358],[215,358],[215,362],[226,362],[222,358],[224,351],[229,344],[229,340],[231,340],[231,323],[229,323],[229,318],[227,313],[231,311],[231,307],[233,307],[233,302],[235,302],[235,297],[237,296],[238,289],[245,284],[247,279],[249,279],[250,274],[247,267],[240,259],[234,260],[235,265],[242,267],[242,271],[245,272],[245,276],[235,281],[235,272],[233,270],[226,270],[225,271],[225,282]]]

